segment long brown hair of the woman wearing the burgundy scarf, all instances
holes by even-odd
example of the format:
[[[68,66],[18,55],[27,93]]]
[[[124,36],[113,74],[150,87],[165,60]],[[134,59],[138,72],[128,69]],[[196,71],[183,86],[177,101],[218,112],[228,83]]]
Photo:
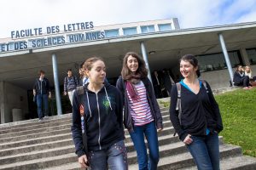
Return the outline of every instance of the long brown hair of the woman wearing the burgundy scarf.
[[[130,55],[137,59],[138,68],[137,68],[136,73],[140,74],[141,78],[147,77],[148,76],[148,70],[146,68],[145,61],[137,53],[135,53],[135,52],[128,52],[128,53],[125,54],[125,57],[123,59],[123,68],[122,68],[122,71],[121,71],[122,78],[124,80],[127,80],[127,77],[129,77],[131,75],[131,73],[132,73],[130,71],[130,69],[128,68],[128,66],[127,66],[127,60],[128,60],[128,57]]]

